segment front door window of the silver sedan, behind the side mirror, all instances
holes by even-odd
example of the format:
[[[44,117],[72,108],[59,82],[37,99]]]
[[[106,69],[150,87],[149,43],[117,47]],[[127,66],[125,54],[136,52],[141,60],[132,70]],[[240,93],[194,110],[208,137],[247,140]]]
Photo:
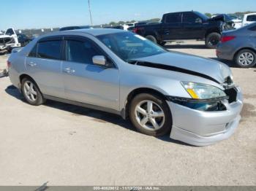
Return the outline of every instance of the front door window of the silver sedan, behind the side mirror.
[[[67,40],[67,61],[93,64],[94,55],[104,55],[90,41]]]

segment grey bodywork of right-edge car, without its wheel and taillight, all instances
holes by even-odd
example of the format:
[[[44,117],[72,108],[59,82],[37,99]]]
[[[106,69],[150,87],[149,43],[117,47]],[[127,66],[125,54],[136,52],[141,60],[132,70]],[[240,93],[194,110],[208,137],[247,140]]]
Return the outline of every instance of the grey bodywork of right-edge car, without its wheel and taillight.
[[[253,26],[256,26],[256,23],[233,31],[223,32],[222,36],[236,36],[236,38],[217,44],[217,57],[227,61],[233,61],[236,53],[241,49],[249,48],[256,52],[256,31],[248,30],[248,28]]]

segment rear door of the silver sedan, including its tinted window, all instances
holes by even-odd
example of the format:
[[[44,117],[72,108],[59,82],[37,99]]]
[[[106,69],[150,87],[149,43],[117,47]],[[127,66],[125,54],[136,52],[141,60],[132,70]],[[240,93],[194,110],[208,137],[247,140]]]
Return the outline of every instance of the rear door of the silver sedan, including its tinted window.
[[[26,57],[27,73],[45,95],[64,98],[62,77],[62,37],[42,39]]]

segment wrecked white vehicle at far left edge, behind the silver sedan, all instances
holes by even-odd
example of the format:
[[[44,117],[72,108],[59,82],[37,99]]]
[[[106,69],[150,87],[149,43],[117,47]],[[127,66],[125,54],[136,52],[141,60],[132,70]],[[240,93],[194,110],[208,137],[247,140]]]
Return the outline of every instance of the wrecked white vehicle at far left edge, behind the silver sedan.
[[[4,35],[0,34],[0,51],[7,50],[9,47],[15,48],[20,46],[14,28],[8,28]]]

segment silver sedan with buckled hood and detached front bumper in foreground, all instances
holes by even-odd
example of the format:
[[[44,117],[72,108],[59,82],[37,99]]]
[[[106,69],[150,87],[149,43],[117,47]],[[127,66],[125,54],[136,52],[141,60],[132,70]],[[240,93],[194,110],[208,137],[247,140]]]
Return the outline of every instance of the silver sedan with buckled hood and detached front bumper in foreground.
[[[169,52],[127,31],[47,34],[13,50],[7,64],[29,104],[53,99],[119,114],[149,136],[214,144],[241,118],[241,90],[228,66]]]

